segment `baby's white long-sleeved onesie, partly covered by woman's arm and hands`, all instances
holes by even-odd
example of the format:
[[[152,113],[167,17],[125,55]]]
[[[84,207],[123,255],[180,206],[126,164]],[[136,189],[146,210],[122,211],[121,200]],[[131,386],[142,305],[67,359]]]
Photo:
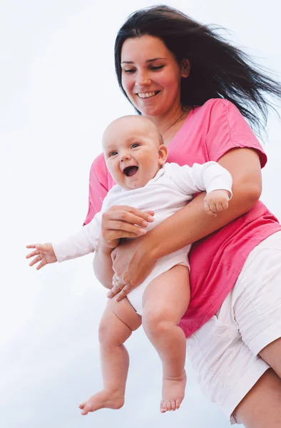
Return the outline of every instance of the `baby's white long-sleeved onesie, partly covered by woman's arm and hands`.
[[[101,233],[101,217],[112,205],[129,205],[141,211],[153,210],[154,221],[148,223],[146,230],[155,228],[165,218],[183,208],[193,195],[206,190],[224,189],[231,192],[232,177],[216,162],[207,162],[203,165],[194,163],[180,166],[177,163],[165,163],[152,180],[142,188],[126,189],[114,185],[103,200],[101,211],[95,215],[91,223],[85,225],[78,233],[71,235],[59,243],[53,243],[53,250],[58,262],[81,257],[93,253],[98,245]],[[210,218],[210,221],[211,218]],[[165,237],[163,238],[165,245]],[[139,315],[143,311],[143,292],[145,287],[158,275],[167,272],[175,265],[189,267],[188,252],[190,245],[160,258],[155,263],[152,272],[138,287],[128,295],[128,300]]]

